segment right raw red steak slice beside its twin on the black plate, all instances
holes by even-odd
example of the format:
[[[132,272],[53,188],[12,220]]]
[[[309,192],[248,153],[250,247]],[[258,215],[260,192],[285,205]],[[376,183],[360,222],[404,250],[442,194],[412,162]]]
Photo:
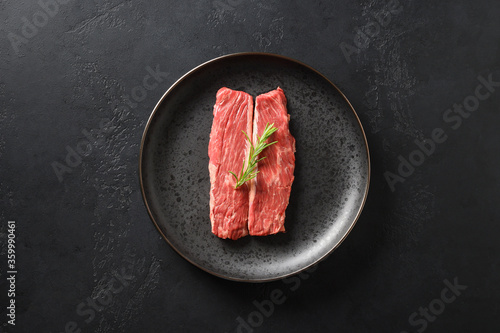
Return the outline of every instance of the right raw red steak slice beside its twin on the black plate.
[[[288,206],[295,170],[295,139],[290,134],[290,115],[281,88],[257,96],[253,119],[253,141],[262,135],[266,124],[278,130],[268,142],[257,165],[259,173],[250,181],[248,230],[250,235],[264,236],[285,231],[285,210]]]

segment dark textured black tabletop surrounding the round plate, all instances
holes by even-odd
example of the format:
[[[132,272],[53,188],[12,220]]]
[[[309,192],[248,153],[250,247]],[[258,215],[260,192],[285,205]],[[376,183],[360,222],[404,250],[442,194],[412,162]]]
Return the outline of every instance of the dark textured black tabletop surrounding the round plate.
[[[241,332],[498,331],[500,87],[460,126],[443,116],[473,100],[479,76],[500,82],[500,2],[58,7],[48,16],[35,1],[0,2],[2,332],[235,332],[238,317],[255,326]],[[371,22],[389,8],[377,29]],[[30,31],[34,19],[40,27]],[[11,40],[23,29],[29,38],[16,50]],[[346,57],[342,46],[355,48],[358,31],[371,36]],[[230,282],[190,265],[160,237],[140,194],[139,145],[155,103],[189,69],[240,51],[321,71],[353,103],[370,145],[370,194],[356,227],[293,280]],[[148,66],[164,73],[140,90]],[[107,132],[85,145],[83,131],[105,120]],[[386,172],[397,173],[399,156],[435,128],[447,140],[392,191]],[[66,164],[77,146],[87,156],[69,160],[59,181],[53,163]],[[16,221],[15,327],[4,325],[8,220]],[[455,279],[467,288],[439,308],[442,292],[452,295],[444,280]],[[103,292],[109,282],[113,293]],[[270,311],[275,289],[284,302]],[[98,296],[106,305],[90,310]],[[430,304],[438,315],[409,321]]]

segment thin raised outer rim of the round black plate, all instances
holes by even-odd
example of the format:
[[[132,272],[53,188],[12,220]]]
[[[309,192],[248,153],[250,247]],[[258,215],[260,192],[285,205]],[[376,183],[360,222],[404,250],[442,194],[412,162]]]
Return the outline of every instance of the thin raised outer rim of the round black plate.
[[[342,98],[349,105],[351,111],[354,114],[354,117],[356,118],[356,121],[358,122],[358,126],[359,126],[359,128],[361,130],[361,134],[363,135],[363,142],[364,142],[365,148],[366,148],[366,159],[367,159],[367,170],[368,171],[367,171],[367,175],[366,175],[367,179],[366,179],[366,186],[365,186],[364,194],[363,194],[363,200],[362,200],[361,205],[359,206],[358,211],[356,212],[356,216],[353,219],[353,221],[351,222],[351,225],[349,226],[349,229],[347,230],[347,232],[342,236],[342,238],[338,241],[338,243],[335,244],[335,246],[333,246],[323,256],[321,256],[320,258],[316,259],[313,263],[311,263],[311,264],[309,264],[309,265],[307,265],[307,266],[305,266],[305,267],[303,267],[301,269],[295,270],[295,271],[290,272],[290,273],[281,274],[280,276],[273,277],[273,278],[244,279],[244,278],[227,276],[227,275],[223,275],[223,274],[219,274],[217,272],[214,272],[214,271],[212,271],[210,269],[207,269],[206,267],[203,267],[202,265],[200,265],[200,264],[194,262],[193,260],[191,260],[190,258],[188,258],[186,255],[184,255],[179,249],[177,249],[170,242],[170,240],[163,233],[163,231],[161,230],[160,226],[156,222],[156,220],[155,220],[155,218],[153,216],[153,212],[151,210],[151,207],[150,207],[150,205],[148,203],[148,200],[146,198],[146,191],[145,191],[144,182],[143,182],[143,178],[144,177],[143,177],[142,164],[143,164],[143,155],[144,155],[144,145],[145,145],[145,141],[146,141],[147,135],[149,133],[149,129],[151,127],[151,123],[152,123],[152,121],[153,121],[156,113],[158,112],[158,109],[160,108],[161,104],[163,103],[163,100],[178,85],[180,85],[184,80],[188,79],[191,75],[193,75],[194,73],[198,72],[199,70],[201,70],[202,68],[206,67],[207,65],[209,65],[211,63],[214,63],[214,62],[217,62],[217,61],[224,60],[224,59],[237,58],[237,57],[242,57],[242,56],[263,56],[263,57],[269,57],[269,58],[276,58],[276,59],[280,59],[280,60],[286,60],[286,61],[295,63],[295,64],[297,64],[299,66],[305,67],[308,70],[310,70],[310,71],[314,72],[315,74],[319,75],[328,84],[330,84],[342,96]],[[287,277],[299,274],[299,273],[301,273],[301,272],[303,272],[303,271],[311,268],[312,266],[317,265],[319,262],[323,261],[324,259],[326,259],[328,256],[330,256],[330,254],[332,254],[344,242],[344,240],[347,238],[347,236],[351,233],[352,229],[356,225],[359,217],[361,216],[361,212],[363,211],[363,208],[365,206],[365,203],[366,203],[366,200],[367,200],[367,197],[368,197],[369,187],[370,187],[371,161],[370,161],[370,150],[369,150],[369,147],[368,147],[368,140],[366,139],[366,134],[365,134],[363,125],[361,124],[361,121],[359,119],[359,116],[356,113],[356,110],[354,109],[354,107],[351,104],[351,102],[349,101],[349,99],[344,95],[344,93],[332,81],[330,81],[330,79],[328,79],[325,75],[323,75],[322,73],[320,73],[319,71],[317,71],[313,67],[311,67],[311,66],[309,66],[309,65],[307,65],[307,64],[305,64],[305,63],[303,63],[303,62],[301,62],[299,60],[296,60],[296,59],[293,59],[293,58],[290,58],[290,57],[287,57],[287,56],[283,56],[283,55],[275,54],[275,53],[267,53],[267,52],[237,52],[237,53],[229,53],[229,54],[225,54],[225,55],[222,55],[222,56],[218,56],[218,57],[212,58],[212,59],[210,59],[208,61],[205,61],[205,62],[199,64],[198,66],[192,68],[191,70],[189,70],[188,72],[186,72],[184,75],[182,75],[179,79],[177,79],[177,81],[175,81],[165,91],[165,93],[161,96],[161,98],[158,100],[158,102],[154,106],[153,111],[151,112],[151,114],[150,114],[150,116],[148,118],[148,121],[146,123],[146,126],[144,128],[144,131],[143,131],[143,134],[142,134],[142,137],[141,137],[141,145],[140,145],[140,149],[139,149],[139,174],[138,174],[138,176],[139,176],[139,184],[140,184],[140,188],[141,188],[142,199],[143,199],[144,205],[146,206],[146,209],[148,211],[148,215],[149,215],[151,221],[153,222],[153,224],[155,225],[156,229],[160,233],[160,235],[170,245],[170,247],[175,252],[177,252],[177,254],[179,254],[182,258],[184,258],[185,260],[187,260],[189,263],[193,264],[194,266],[196,266],[196,267],[200,268],[201,270],[203,270],[203,271],[205,271],[207,273],[210,273],[210,274],[212,274],[214,276],[217,276],[217,277],[220,277],[220,278],[223,278],[223,279],[226,279],[226,280],[230,280],[230,281],[260,283],[260,282],[271,282],[271,281],[281,280],[281,279],[284,279],[284,278],[287,278]]]

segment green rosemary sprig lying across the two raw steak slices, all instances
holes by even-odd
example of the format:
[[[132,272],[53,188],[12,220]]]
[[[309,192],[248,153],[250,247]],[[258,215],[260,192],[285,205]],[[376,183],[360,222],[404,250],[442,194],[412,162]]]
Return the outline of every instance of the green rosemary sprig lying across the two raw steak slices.
[[[262,133],[261,137],[257,135],[257,144],[254,146],[252,144],[252,140],[248,137],[248,135],[245,133],[245,131],[242,131],[243,134],[245,134],[248,142],[250,143],[250,152],[248,154],[248,162],[245,163],[245,160],[243,160],[243,165],[241,166],[241,172],[240,176],[236,176],[236,174],[232,171],[229,171],[230,174],[234,176],[236,179],[236,185],[234,186],[235,189],[240,187],[241,185],[245,184],[245,182],[249,181],[250,179],[253,179],[257,176],[259,173],[258,170],[255,170],[257,168],[257,163],[265,159],[266,157],[261,157],[258,159],[259,154],[262,153],[264,149],[267,147],[275,144],[278,141],[274,141],[271,143],[266,143],[267,139],[276,132],[278,129],[274,127],[274,123],[269,125],[269,123],[266,124],[266,127],[264,128],[264,132]],[[246,167],[245,167],[246,164]]]

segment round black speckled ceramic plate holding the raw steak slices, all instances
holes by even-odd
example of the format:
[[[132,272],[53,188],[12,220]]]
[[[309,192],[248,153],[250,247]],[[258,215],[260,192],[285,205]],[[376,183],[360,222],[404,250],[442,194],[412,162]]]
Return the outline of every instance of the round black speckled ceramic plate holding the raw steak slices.
[[[286,233],[236,241],[211,233],[208,141],[224,86],[286,94],[297,148]],[[214,275],[257,282],[307,269],[344,240],[367,196],[370,160],[356,113],[324,76],[293,59],[240,53],[196,67],[163,95],[144,131],[139,174],[154,224],[181,256]]]

